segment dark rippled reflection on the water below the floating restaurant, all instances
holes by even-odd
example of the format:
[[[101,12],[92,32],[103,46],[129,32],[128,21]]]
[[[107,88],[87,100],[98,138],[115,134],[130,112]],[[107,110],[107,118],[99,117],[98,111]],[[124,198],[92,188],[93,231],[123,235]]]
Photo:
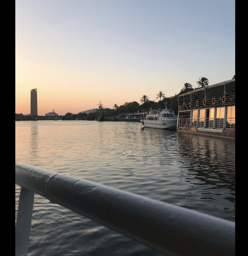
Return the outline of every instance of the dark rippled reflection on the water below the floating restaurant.
[[[235,141],[183,133],[178,141],[182,179],[203,187],[200,199],[235,203]]]

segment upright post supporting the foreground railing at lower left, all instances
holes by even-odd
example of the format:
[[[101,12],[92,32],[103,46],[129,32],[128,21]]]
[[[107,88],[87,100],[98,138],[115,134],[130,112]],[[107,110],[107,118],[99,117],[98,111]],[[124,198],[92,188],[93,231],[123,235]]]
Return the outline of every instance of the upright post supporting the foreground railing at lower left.
[[[15,256],[27,255],[35,193],[21,187],[15,230]]]

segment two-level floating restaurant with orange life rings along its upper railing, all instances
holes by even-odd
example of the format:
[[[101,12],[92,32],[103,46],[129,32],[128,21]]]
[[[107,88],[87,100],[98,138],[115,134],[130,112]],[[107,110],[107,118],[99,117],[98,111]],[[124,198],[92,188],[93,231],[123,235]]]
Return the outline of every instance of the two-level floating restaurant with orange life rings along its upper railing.
[[[235,78],[180,94],[177,132],[235,139]]]

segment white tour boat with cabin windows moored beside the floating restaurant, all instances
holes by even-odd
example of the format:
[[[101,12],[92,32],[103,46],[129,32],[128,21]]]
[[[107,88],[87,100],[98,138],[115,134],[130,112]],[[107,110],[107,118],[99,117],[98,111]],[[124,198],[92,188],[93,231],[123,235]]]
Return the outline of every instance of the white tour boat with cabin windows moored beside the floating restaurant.
[[[141,118],[141,123],[144,127],[158,128],[158,129],[176,129],[177,116],[170,113],[166,107],[161,111],[151,110],[146,117]]]

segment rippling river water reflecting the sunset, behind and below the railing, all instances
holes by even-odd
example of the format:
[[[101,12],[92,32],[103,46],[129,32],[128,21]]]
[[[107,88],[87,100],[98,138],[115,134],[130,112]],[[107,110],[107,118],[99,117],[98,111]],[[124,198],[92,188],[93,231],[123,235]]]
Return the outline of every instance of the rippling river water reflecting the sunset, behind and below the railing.
[[[235,140],[141,123],[19,121],[16,161],[235,221]],[[35,194],[28,255],[161,253]]]

